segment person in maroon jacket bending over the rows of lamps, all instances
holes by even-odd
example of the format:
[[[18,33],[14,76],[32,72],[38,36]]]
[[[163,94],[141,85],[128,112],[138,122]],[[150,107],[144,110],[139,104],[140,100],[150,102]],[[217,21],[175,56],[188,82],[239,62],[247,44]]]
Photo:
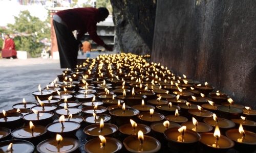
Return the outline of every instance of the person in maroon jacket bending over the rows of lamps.
[[[106,8],[75,8],[57,12],[53,15],[60,67],[75,68],[77,64],[78,45],[85,33],[89,33],[93,41],[112,51],[112,47],[106,45],[97,35],[97,22],[104,21],[109,16]],[[73,31],[77,30],[77,39]]]

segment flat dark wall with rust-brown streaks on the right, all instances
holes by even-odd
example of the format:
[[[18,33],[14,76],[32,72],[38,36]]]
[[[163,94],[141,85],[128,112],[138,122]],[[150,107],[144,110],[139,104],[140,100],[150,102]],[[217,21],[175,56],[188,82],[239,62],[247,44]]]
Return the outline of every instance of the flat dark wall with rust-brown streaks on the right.
[[[255,1],[157,1],[152,61],[256,108]]]

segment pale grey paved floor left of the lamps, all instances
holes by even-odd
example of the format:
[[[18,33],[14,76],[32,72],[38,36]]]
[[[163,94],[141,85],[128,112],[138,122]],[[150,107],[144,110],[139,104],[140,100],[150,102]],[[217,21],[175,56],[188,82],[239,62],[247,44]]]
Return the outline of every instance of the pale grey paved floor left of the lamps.
[[[91,57],[98,55],[98,52],[94,52]],[[46,87],[58,74],[61,74],[59,60],[0,59],[0,112],[12,109],[12,105],[21,103],[23,98],[35,101],[32,92],[38,90],[38,84]]]

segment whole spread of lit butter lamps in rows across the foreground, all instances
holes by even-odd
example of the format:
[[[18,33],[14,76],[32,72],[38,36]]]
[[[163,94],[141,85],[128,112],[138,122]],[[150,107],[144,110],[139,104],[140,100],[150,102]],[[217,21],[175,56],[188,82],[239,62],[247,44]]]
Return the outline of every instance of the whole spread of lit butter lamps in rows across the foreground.
[[[255,110],[148,57],[101,55],[39,85],[0,113],[0,152],[255,150]]]

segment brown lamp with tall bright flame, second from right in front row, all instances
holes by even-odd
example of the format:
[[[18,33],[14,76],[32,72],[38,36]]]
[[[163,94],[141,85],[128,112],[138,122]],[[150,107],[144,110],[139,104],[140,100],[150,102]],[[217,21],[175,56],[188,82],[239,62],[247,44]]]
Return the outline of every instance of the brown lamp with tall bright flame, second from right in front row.
[[[205,149],[211,151],[227,150],[234,146],[234,142],[221,135],[219,126],[215,127],[214,133],[201,133],[200,142],[204,145]]]

